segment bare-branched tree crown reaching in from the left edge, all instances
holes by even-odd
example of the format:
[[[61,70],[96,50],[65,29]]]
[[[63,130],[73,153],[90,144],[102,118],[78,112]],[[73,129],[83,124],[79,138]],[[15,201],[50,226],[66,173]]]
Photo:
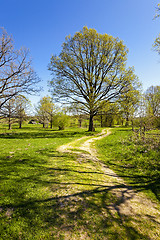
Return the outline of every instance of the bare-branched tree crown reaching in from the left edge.
[[[0,108],[19,94],[35,94],[40,79],[32,68],[29,51],[15,50],[12,37],[4,29],[0,35]]]

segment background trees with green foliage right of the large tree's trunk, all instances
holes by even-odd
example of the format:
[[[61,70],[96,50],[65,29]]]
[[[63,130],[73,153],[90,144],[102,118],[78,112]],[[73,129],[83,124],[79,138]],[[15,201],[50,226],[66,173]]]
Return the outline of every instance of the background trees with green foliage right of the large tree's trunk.
[[[101,126],[131,125],[143,129],[160,127],[160,86],[151,86],[144,93],[133,91],[99,113]]]

